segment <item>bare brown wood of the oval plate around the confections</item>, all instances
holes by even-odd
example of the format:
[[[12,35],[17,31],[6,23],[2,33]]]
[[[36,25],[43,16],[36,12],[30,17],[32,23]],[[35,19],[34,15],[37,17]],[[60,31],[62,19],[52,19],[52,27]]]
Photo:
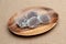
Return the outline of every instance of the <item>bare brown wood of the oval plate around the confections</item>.
[[[31,29],[25,30],[25,29],[19,28],[14,22],[15,18],[23,15],[23,13],[28,12],[29,10],[46,11],[51,15],[51,23],[48,23],[46,25],[40,25],[38,28],[32,29],[32,30]],[[21,10],[21,11],[14,13],[8,21],[8,28],[12,33],[14,33],[16,35],[32,36],[32,35],[42,34],[42,33],[45,33],[45,32],[52,30],[52,28],[54,28],[57,24],[57,20],[58,20],[58,14],[53,9],[45,8],[45,7],[32,7],[32,8],[26,8],[24,10]]]

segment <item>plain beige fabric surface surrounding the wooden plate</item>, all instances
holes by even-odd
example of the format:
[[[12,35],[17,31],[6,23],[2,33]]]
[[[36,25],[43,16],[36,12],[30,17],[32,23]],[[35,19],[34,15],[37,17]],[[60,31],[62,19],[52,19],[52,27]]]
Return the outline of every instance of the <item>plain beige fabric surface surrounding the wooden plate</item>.
[[[58,24],[51,32],[35,37],[18,37],[7,29],[13,13],[29,7],[48,7],[59,14]],[[66,0],[0,0],[0,44],[66,44]]]

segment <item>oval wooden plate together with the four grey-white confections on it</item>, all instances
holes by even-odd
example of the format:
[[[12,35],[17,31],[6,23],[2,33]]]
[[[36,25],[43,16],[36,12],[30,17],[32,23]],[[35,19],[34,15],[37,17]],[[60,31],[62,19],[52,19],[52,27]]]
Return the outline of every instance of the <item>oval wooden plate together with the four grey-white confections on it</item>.
[[[57,20],[58,14],[53,9],[32,7],[14,13],[8,21],[8,28],[13,34],[33,36],[52,30]]]

